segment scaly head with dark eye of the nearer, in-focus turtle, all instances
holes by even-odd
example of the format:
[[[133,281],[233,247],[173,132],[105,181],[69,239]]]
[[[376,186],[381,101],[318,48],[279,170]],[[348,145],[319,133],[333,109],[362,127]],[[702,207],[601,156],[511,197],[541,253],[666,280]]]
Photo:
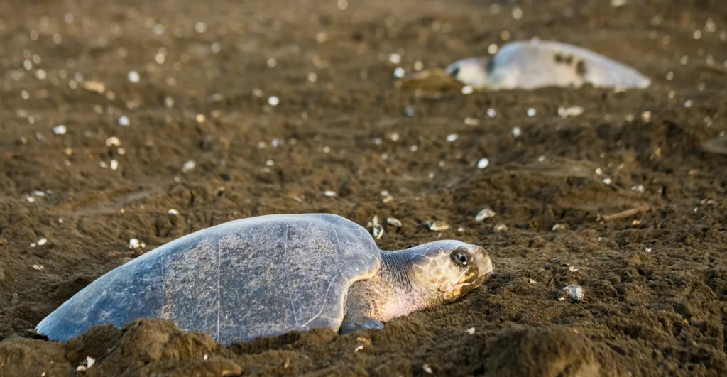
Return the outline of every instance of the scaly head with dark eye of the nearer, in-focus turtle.
[[[492,275],[487,251],[469,243],[439,240],[410,248],[409,253],[411,283],[431,301],[454,301]]]

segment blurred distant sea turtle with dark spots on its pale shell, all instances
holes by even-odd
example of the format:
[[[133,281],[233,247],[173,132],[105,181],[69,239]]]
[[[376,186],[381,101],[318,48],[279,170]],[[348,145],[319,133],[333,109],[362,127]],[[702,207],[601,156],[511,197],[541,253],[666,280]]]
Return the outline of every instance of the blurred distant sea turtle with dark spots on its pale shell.
[[[537,89],[544,86],[646,88],[651,79],[601,54],[556,41],[513,41],[492,57],[468,57],[446,72],[475,89]]]

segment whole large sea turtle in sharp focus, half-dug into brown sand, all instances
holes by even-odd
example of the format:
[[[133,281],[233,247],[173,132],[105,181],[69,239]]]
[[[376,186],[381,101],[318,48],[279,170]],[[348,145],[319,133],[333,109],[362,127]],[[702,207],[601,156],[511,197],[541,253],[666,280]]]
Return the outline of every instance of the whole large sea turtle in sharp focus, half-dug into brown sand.
[[[132,259],[36,331],[67,341],[95,325],[158,318],[224,344],[318,327],[350,333],[454,301],[491,272],[483,248],[457,240],[382,251],[364,227],[334,214],[257,216]]]

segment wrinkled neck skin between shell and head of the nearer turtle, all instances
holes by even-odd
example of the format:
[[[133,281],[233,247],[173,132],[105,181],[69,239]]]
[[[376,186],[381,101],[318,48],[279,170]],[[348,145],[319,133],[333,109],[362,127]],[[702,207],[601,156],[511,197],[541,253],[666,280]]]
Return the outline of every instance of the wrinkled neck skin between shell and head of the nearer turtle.
[[[441,297],[419,288],[412,281],[410,254],[409,250],[382,251],[379,273],[369,280],[354,283],[349,289],[347,301],[353,307],[348,310],[385,322],[440,304]]]

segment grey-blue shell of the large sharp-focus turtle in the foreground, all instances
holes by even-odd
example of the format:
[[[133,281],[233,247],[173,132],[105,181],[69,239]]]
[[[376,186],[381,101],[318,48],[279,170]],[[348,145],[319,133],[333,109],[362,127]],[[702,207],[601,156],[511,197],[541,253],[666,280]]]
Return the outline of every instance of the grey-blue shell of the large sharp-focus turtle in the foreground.
[[[96,325],[171,320],[231,344],[327,327],[337,331],[350,285],[373,277],[381,251],[333,214],[239,219],[166,243],[99,277],[36,331],[68,341]]]

